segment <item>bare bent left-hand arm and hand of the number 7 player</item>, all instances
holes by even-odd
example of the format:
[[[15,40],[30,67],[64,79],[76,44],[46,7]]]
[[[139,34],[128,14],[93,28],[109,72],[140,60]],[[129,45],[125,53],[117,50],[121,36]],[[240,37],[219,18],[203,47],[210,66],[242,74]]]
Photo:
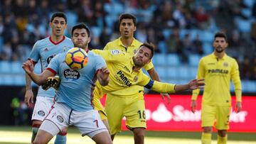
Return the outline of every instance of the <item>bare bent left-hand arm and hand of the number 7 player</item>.
[[[34,72],[34,67],[31,60],[24,62],[22,68],[29,75],[29,77],[31,77],[33,82],[38,85],[46,83],[48,77],[53,77],[55,75],[53,74],[53,72],[50,72],[48,70],[44,70],[41,74],[36,74]]]

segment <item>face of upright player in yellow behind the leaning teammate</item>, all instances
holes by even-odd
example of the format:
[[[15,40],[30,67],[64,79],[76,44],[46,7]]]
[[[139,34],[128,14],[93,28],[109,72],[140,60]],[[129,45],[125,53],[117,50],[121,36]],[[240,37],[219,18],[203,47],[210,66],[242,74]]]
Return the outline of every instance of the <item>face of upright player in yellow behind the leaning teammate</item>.
[[[122,19],[119,31],[122,38],[132,38],[134,31],[136,31],[136,26],[134,26],[132,19]]]

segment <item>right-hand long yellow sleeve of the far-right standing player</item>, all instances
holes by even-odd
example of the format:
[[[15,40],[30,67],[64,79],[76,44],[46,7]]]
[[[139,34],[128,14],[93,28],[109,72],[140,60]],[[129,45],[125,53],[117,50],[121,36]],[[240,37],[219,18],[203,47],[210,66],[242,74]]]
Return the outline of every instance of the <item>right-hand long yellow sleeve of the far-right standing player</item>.
[[[234,60],[234,65],[232,67],[230,74],[231,74],[231,79],[232,79],[234,87],[235,87],[236,101],[241,102],[242,101],[242,86],[241,86],[238,62],[236,62],[235,60]]]

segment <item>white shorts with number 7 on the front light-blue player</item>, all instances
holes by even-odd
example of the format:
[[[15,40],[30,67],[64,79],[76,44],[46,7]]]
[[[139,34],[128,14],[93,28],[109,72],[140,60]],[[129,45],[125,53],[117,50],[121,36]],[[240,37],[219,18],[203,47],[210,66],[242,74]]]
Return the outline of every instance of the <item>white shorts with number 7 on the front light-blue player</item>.
[[[62,131],[63,128],[67,128],[68,126],[77,127],[82,136],[88,135],[90,138],[98,133],[107,131],[97,111],[74,111],[63,103],[55,103],[53,109],[50,110],[50,113],[46,117],[46,120],[54,123],[59,131],[52,131],[54,128],[52,126],[46,126],[48,122],[45,121],[43,121],[40,129],[52,135],[56,135],[58,132]]]

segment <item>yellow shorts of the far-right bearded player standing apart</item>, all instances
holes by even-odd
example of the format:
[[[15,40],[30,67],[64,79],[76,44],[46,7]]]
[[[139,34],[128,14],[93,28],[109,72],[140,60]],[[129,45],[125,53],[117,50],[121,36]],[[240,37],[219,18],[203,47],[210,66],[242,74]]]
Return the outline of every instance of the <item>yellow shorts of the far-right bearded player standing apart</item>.
[[[218,130],[229,129],[229,117],[231,106],[210,106],[207,104],[202,105],[201,120],[202,127],[214,126]]]

